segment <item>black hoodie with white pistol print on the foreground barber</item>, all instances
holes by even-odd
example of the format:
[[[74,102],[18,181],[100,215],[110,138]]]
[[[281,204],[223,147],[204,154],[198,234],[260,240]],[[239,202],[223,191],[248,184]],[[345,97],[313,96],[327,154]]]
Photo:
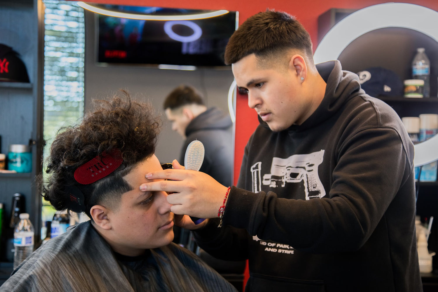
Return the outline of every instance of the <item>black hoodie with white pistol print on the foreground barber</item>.
[[[421,291],[413,144],[399,116],[339,61],[301,125],[261,121],[223,223],[196,233],[215,257],[249,259],[254,291]],[[217,223],[216,223],[217,224]]]

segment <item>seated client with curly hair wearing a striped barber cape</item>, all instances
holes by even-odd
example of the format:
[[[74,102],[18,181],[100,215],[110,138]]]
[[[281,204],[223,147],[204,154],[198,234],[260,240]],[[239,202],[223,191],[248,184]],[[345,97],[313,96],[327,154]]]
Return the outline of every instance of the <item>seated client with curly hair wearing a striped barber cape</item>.
[[[7,292],[236,291],[194,253],[172,243],[164,191],[140,191],[160,121],[146,103],[114,97],[54,139],[42,194],[91,219],[40,246],[0,287]]]

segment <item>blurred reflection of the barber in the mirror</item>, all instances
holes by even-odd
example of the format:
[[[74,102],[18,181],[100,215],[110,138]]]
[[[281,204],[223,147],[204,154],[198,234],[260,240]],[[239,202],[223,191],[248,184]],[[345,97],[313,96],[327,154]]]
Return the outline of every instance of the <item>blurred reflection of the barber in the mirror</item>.
[[[192,86],[180,85],[167,95],[163,104],[172,130],[183,138],[180,162],[188,144],[194,140],[204,144],[205,155],[199,171],[207,173],[223,185],[231,185],[233,143],[230,115],[213,107],[207,109],[201,94]]]

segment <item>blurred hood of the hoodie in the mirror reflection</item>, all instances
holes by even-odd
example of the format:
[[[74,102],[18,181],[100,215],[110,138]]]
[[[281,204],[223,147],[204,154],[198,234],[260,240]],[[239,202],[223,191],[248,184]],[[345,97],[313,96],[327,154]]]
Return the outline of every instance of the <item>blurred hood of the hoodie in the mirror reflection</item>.
[[[229,115],[213,107],[194,118],[186,128],[186,137],[199,130],[226,130],[233,125]]]

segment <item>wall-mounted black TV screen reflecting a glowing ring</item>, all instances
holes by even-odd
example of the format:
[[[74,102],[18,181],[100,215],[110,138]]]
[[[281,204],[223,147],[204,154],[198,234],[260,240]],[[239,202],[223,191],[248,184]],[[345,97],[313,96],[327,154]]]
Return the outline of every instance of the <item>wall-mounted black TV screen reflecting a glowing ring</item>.
[[[109,11],[139,15],[181,16],[212,11],[100,5]],[[184,20],[141,20],[97,15],[99,63],[225,66],[228,39],[237,28],[238,12]]]

